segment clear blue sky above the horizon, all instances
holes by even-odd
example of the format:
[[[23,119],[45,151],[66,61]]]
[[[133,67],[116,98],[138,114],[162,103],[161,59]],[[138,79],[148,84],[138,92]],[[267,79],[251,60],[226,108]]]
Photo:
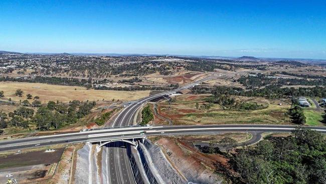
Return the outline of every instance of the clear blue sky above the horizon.
[[[0,1],[0,50],[326,59],[326,1]]]

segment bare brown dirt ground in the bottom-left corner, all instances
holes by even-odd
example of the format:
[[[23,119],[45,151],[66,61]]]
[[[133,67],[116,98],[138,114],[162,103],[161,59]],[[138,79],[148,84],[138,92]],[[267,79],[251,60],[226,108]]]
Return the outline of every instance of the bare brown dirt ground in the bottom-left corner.
[[[0,156],[0,181],[5,182],[6,175],[11,173],[19,183],[67,183],[61,182],[65,178],[65,163],[71,149],[55,149],[54,152],[45,152],[44,149],[37,151],[21,152],[16,154],[3,154]],[[70,168],[70,167],[69,167]],[[68,170],[69,172],[69,170]],[[56,177],[58,182],[53,181],[53,174],[60,174],[64,177]],[[69,175],[68,177],[69,178]],[[49,179],[49,180],[48,180]]]

